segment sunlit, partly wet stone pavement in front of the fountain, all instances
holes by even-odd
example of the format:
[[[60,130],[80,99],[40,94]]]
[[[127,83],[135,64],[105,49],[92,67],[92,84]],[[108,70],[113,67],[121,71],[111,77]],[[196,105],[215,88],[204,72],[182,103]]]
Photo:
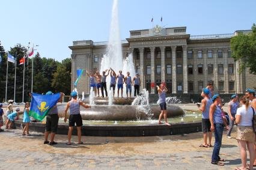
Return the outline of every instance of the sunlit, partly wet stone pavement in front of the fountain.
[[[222,140],[225,166],[212,165],[212,147],[198,147],[202,133],[145,137],[82,136],[84,144],[66,145],[66,135],[56,135],[57,145],[43,144],[43,133],[22,136],[20,129],[0,132],[0,169],[234,169],[240,166],[237,141]],[[213,142],[214,143],[214,138]],[[249,154],[248,154],[249,155]]]

